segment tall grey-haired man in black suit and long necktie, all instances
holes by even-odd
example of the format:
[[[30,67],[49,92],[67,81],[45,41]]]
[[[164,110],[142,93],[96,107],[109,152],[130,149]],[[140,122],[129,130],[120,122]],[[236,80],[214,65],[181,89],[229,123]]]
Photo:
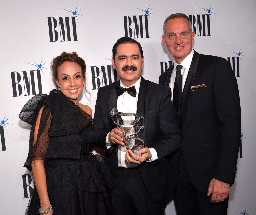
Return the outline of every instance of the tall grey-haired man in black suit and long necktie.
[[[174,64],[159,77],[170,86],[182,132],[178,184],[174,193],[178,215],[226,214],[234,183],[241,110],[237,81],[229,63],[192,49],[195,32],[185,14],[164,22],[162,41]]]

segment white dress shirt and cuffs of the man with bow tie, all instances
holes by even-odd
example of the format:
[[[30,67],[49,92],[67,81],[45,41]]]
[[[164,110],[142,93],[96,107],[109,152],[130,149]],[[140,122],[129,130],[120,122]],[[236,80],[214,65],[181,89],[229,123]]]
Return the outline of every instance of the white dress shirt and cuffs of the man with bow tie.
[[[139,94],[139,89],[140,89],[140,82],[141,78],[132,86],[135,86],[136,89],[136,96],[132,97],[129,93],[125,92],[122,95],[117,97],[117,110],[118,112],[123,112],[123,113],[137,113],[137,103],[138,103],[138,94]],[[126,87],[123,85],[123,83],[120,80],[120,86],[121,87]],[[130,86],[130,87],[132,87]],[[126,87],[128,88],[128,87]],[[145,128],[144,128],[145,129]],[[108,133],[109,135],[109,133]],[[108,140],[108,135],[106,137],[106,146],[109,149],[111,147],[111,143],[109,143]],[[151,154],[152,154],[152,161],[157,159],[157,152],[154,148],[149,148]],[[118,157],[118,166],[119,167],[125,167],[125,168],[134,168],[138,167],[137,164],[135,163],[128,163],[125,160],[125,153],[126,153],[126,148],[118,145],[118,152],[117,152],[117,157]]]

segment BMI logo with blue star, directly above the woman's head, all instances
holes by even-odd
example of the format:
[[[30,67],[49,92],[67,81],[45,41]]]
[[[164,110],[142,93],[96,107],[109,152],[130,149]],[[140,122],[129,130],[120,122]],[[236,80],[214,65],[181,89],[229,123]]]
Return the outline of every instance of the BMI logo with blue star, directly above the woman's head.
[[[60,42],[63,41],[78,41],[77,40],[77,33],[76,33],[76,20],[78,21],[78,17],[82,16],[81,14],[78,14],[80,10],[77,10],[77,7],[75,10],[66,10],[69,13],[72,14],[72,16],[65,16],[61,17],[47,17],[48,20],[48,29],[49,29],[49,42],[56,42],[58,39]],[[70,15],[71,15],[70,14]]]

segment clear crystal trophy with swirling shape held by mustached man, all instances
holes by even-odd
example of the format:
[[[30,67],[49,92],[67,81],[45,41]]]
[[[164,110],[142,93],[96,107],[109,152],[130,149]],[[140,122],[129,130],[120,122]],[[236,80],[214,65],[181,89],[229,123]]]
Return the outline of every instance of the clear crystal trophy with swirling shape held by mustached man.
[[[135,113],[118,112],[114,107],[110,113],[112,120],[120,128],[124,139],[126,149],[130,149],[135,155],[141,156],[138,152],[144,147],[144,140],[141,138],[142,129],[144,128],[144,117]]]

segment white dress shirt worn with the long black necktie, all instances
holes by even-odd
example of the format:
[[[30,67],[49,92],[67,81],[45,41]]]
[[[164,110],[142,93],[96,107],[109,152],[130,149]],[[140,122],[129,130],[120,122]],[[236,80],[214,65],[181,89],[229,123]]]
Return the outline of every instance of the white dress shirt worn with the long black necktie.
[[[189,68],[190,68],[190,64],[191,64],[193,56],[194,56],[194,50],[192,49],[190,54],[180,64],[183,67],[181,69],[182,91],[183,91],[183,88],[184,88],[184,85],[185,85],[185,82],[186,82],[186,79],[187,79],[187,76],[188,76],[188,73],[189,73]],[[169,84],[169,87],[172,90],[172,100],[173,100],[173,86],[174,86],[174,81],[175,81],[175,77],[176,77],[176,66],[177,65],[178,64],[174,60],[174,67],[173,67],[173,71],[172,71],[171,79],[170,79],[170,84]]]

